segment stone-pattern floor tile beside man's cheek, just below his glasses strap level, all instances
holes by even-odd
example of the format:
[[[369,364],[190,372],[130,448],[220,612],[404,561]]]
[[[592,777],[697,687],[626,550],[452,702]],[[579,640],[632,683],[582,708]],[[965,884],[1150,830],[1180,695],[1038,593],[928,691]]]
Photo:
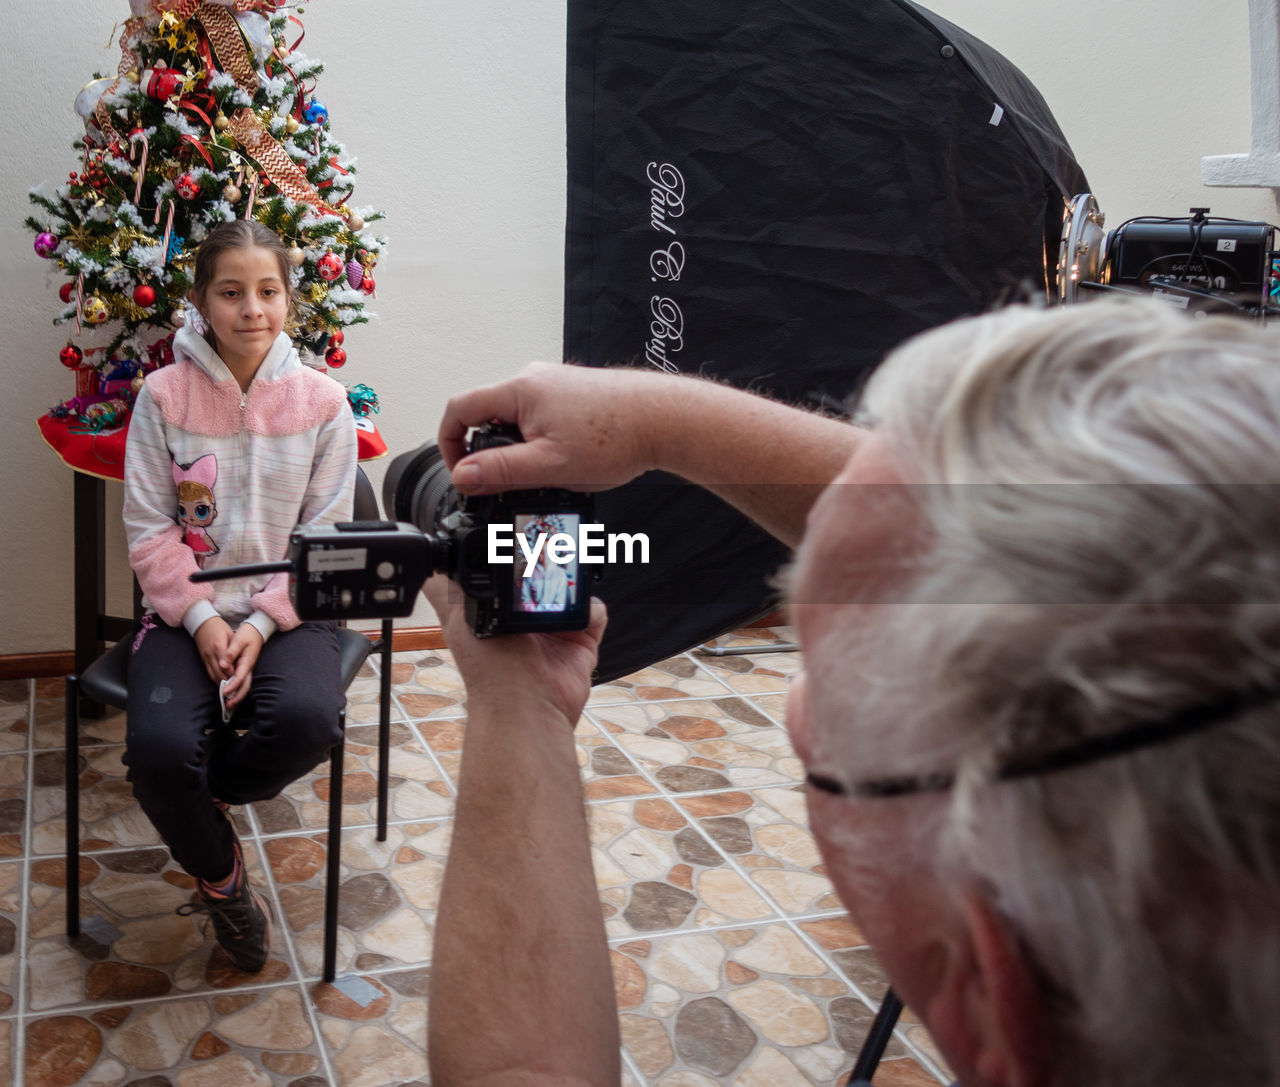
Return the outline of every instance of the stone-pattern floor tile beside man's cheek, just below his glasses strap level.
[[[785,914],[842,912],[809,833],[804,787],[677,796],[695,819]]]

